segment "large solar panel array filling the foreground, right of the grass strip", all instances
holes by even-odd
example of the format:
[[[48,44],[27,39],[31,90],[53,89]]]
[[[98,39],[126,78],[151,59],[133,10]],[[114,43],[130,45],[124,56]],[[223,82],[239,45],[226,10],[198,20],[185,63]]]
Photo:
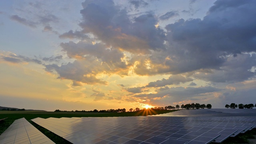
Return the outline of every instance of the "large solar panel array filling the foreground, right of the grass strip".
[[[222,142],[256,126],[256,116],[35,118],[32,121],[75,144],[207,144]]]

